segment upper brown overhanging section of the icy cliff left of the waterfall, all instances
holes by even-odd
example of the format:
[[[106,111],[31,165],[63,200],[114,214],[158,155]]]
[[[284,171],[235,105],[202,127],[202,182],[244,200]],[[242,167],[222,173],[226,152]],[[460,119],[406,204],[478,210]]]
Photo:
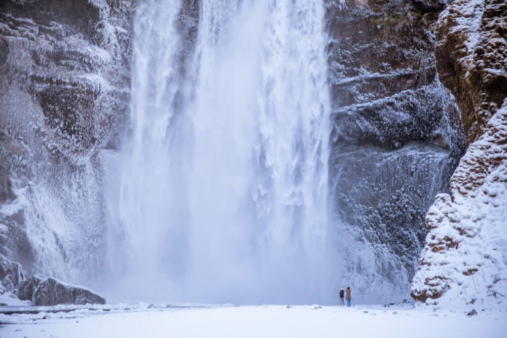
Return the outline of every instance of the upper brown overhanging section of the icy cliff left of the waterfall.
[[[16,120],[25,119],[25,128],[33,124],[54,154],[73,163],[114,142],[128,111],[131,5],[13,0],[0,6],[1,129],[21,129],[14,131],[21,136]]]

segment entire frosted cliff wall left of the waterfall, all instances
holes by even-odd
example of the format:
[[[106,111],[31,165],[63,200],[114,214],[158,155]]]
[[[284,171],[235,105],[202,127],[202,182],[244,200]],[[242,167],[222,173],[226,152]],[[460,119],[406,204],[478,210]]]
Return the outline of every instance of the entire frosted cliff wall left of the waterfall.
[[[97,273],[97,151],[117,146],[127,117],[132,7],[0,3],[0,252],[28,272]]]

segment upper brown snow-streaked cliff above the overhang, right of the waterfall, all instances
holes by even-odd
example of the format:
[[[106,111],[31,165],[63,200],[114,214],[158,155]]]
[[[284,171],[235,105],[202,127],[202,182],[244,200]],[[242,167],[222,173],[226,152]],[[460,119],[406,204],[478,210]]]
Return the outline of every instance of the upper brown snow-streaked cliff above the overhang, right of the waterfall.
[[[329,2],[337,142],[399,148],[423,140],[461,153],[459,112],[436,79],[429,29],[443,7],[437,1]]]

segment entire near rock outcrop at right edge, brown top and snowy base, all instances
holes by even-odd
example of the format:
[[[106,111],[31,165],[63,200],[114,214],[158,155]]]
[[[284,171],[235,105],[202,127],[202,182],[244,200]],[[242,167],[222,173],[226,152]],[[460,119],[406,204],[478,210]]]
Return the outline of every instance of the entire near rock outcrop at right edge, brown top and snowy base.
[[[434,305],[507,296],[507,3],[455,1],[437,22],[436,55],[472,142],[426,215],[412,297]],[[498,109],[500,106],[503,107]]]

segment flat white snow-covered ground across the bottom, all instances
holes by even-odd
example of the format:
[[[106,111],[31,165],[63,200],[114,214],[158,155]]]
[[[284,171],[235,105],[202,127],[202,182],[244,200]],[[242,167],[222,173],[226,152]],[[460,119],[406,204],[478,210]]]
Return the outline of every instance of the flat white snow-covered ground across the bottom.
[[[122,309],[123,308],[123,309]],[[51,308],[0,315],[2,338],[33,337],[506,337],[507,309],[409,306]],[[11,308],[16,309],[16,308]],[[19,309],[19,308],[17,308]],[[6,308],[0,308],[5,313]],[[48,308],[49,311],[49,308]],[[64,312],[68,311],[68,312]]]

